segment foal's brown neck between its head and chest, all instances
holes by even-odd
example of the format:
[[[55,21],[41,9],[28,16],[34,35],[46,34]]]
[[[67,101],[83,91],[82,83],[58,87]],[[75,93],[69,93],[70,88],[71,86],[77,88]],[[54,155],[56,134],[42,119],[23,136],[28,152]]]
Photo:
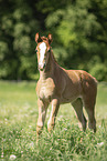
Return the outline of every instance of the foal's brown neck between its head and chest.
[[[45,79],[52,77],[52,74],[54,73],[54,71],[56,69],[56,66],[57,66],[57,62],[53,56],[53,52],[51,51],[49,62],[45,67],[45,70],[40,71],[40,79],[45,80]]]

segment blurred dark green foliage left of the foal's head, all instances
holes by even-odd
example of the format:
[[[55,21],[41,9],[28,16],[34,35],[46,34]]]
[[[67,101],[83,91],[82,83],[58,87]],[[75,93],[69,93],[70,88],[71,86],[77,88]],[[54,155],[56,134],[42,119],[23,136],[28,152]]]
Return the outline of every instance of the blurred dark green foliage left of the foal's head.
[[[40,24],[36,19],[34,20],[34,10],[32,11],[29,2],[11,3],[15,8],[11,8],[11,12],[2,12],[1,19],[0,78],[34,79],[38,69],[34,34]],[[1,4],[6,8],[4,2]]]

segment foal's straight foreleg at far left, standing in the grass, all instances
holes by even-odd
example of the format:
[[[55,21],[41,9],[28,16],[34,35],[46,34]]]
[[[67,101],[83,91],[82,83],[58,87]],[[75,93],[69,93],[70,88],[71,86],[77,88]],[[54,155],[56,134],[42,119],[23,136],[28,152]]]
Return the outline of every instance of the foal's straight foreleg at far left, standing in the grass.
[[[44,121],[45,121],[45,115],[46,115],[46,105],[43,103],[42,100],[38,100],[38,107],[39,107],[39,119],[38,119],[38,123],[36,123],[36,135],[39,138],[39,135],[42,132],[43,125],[44,125]]]

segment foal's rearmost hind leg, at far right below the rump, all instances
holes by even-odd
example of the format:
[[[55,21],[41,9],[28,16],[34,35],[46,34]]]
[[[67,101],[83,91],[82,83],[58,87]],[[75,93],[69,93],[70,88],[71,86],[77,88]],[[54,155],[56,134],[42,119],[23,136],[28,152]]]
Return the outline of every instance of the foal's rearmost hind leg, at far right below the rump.
[[[84,105],[88,114],[88,128],[93,129],[94,132],[96,132],[95,102],[96,98],[94,98],[94,95],[84,97]]]

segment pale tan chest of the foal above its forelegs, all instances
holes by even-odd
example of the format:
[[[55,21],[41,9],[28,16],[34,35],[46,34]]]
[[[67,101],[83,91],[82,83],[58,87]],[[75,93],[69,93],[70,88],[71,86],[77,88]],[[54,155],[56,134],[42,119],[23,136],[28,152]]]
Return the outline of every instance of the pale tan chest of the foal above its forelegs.
[[[54,93],[55,84],[52,79],[46,81],[39,81],[36,85],[36,93],[40,99],[47,100],[51,99]]]

